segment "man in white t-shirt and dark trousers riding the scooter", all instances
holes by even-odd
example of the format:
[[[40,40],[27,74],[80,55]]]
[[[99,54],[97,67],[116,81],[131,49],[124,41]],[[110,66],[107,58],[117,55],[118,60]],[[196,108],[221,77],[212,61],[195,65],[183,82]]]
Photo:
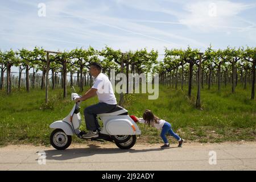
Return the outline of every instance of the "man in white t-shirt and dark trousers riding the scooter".
[[[98,104],[91,105],[84,109],[84,118],[88,133],[81,132],[82,138],[97,138],[100,125],[97,120],[97,114],[107,113],[115,109],[117,99],[109,78],[101,73],[101,65],[98,63],[90,64],[90,74],[95,78],[95,82],[82,97],[77,98],[76,102],[85,101],[88,98],[98,96]]]

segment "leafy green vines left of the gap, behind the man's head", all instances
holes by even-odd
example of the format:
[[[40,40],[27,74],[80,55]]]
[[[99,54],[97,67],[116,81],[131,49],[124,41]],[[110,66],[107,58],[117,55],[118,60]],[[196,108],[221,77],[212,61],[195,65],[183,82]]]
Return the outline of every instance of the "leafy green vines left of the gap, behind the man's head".
[[[88,49],[76,48],[71,51],[52,52],[46,51],[42,47],[35,47],[29,51],[19,49],[18,51],[0,50],[0,89],[3,89],[4,73],[6,72],[6,92],[11,94],[11,68],[19,68],[18,89],[20,89],[20,80],[22,72],[26,72],[26,90],[35,88],[35,74],[42,71],[41,89],[46,88],[47,74],[51,71],[52,89],[56,87],[56,76],[61,73],[61,87],[63,88],[63,97],[67,96],[67,73],[70,73],[70,86],[73,86],[73,75],[76,74],[77,85],[82,92],[86,81],[90,80],[92,85],[92,76],[89,74],[89,65],[97,62],[102,65],[102,72],[110,76],[110,70],[115,69],[116,73],[143,73],[150,72],[152,65],[157,64],[158,52],[152,49],[148,52],[146,49],[137,51],[121,52],[110,47],[105,47],[98,51],[92,47]],[[32,76],[29,71],[32,69]],[[30,79],[32,77],[32,85]],[[127,74],[127,82],[128,82]],[[128,84],[128,83],[127,83]],[[127,85],[127,90],[128,90]],[[47,94],[47,93],[46,93]]]

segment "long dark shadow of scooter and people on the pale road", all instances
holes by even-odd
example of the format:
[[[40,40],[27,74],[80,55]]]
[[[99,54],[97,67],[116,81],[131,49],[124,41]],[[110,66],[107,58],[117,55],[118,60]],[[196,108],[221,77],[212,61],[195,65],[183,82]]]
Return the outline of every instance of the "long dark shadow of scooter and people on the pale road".
[[[171,147],[177,148],[177,147]],[[171,148],[165,149],[170,150]],[[88,148],[70,148],[66,150],[46,150],[46,159],[48,160],[68,160],[91,156],[95,154],[121,154],[121,153],[137,153],[137,152],[150,152],[150,151],[163,151],[161,148],[150,148],[135,150],[133,148],[128,150],[121,150],[119,148],[101,148],[100,146],[89,144]]]

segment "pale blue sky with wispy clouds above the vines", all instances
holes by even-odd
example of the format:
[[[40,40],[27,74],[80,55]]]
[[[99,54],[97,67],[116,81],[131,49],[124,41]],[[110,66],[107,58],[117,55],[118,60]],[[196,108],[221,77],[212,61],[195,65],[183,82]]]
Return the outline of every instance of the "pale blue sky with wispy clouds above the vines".
[[[255,0],[1,0],[0,49],[255,47],[255,12]]]

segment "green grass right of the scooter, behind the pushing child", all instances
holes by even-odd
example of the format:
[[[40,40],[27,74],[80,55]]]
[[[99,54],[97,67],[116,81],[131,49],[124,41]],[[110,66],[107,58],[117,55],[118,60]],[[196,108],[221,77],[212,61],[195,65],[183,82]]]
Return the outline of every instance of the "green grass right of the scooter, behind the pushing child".
[[[210,90],[203,89],[200,109],[195,107],[196,94],[195,86],[191,98],[187,97],[187,88],[181,91],[170,86],[160,86],[158,100],[148,100],[147,94],[134,94],[133,101],[126,103],[126,109],[139,117],[142,117],[145,109],[150,109],[159,118],[170,122],[174,131],[188,140],[255,140],[256,102],[250,100],[250,89],[243,90],[238,85],[235,94],[231,94],[230,85],[221,88],[221,92],[218,92],[216,86]],[[142,136],[154,136],[154,128],[144,129],[140,126]],[[150,140],[156,142],[156,139]],[[160,138],[158,141],[162,142]]]

